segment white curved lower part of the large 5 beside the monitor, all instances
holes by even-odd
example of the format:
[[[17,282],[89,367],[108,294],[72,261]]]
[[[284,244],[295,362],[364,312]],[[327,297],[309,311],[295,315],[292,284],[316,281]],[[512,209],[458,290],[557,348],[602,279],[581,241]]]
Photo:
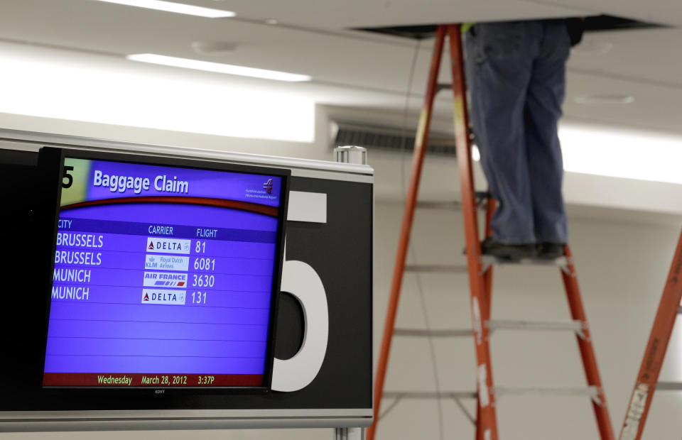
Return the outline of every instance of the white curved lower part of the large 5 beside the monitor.
[[[288,292],[303,309],[303,344],[291,359],[275,358],[272,389],[298,391],[310,385],[320,372],[327,353],[329,312],[327,293],[320,275],[303,261],[286,260],[284,245],[281,291]]]

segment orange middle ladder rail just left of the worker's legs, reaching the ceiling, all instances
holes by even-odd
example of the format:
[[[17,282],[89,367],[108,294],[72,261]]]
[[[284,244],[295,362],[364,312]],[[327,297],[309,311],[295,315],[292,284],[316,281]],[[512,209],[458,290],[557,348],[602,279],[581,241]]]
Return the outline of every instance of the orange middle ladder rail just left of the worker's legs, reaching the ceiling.
[[[490,365],[489,330],[482,325],[482,311],[489,311],[485,277],[480,260],[481,246],[478,232],[477,204],[472,172],[469,116],[467,114],[466,84],[462,54],[462,33],[459,25],[448,26],[450,61],[453,75],[453,109],[455,119],[455,148],[460,173],[462,214],[464,215],[469,285],[471,290],[472,324],[476,348],[476,378],[478,389],[477,437],[497,440],[495,395]]]

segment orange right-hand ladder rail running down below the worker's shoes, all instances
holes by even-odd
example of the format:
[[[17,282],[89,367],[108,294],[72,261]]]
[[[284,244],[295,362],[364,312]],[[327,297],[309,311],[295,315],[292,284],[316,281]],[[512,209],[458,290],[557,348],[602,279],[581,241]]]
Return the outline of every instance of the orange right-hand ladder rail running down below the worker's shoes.
[[[599,430],[600,439],[615,440],[606,396],[599,375],[599,368],[597,368],[597,357],[595,356],[594,347],[592,346],[590,326],[588,325],[588,318],[585,314],[585,308],[583,307],[583,299],[580,297],[578,273],[575,271],[570,248],[565,246],[564,252],[566,260],[568,261],[568,271],[561,270],[560,272],[563,278],[566,297],[568,299],[570,316],[572,319],[583,323],[583,334],[576,334],[575,336],[578,341],[578,348],[580,349],[580,358],[583,361],[583,368],[585,370],[585,378],[588,386],[596,387],[598,391],[597,400],[592,400],[592,409],[594,409],[595,419],[597,420],[597,429]]]

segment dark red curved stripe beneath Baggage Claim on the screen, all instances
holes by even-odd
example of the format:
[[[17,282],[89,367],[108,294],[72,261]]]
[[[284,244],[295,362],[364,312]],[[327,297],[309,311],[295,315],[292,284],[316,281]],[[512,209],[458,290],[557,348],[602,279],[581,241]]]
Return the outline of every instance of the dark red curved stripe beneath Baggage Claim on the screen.
[[[211,197],[183,197],[183,196],[114,197],[112,199],[88,200],[87,202],[67,204],[61,207],[61,209],[65,210],[85,207],[96,207],[104,204],[122,203],[198,204],[205,207],[239,209],[241,211],[255,212],[256,214],[265,214],[266,216],[271,217],[276,217],[279,214],[278,207],[269,207],[268,205],[264,204],[240,202],[239,200],[212,199]]]

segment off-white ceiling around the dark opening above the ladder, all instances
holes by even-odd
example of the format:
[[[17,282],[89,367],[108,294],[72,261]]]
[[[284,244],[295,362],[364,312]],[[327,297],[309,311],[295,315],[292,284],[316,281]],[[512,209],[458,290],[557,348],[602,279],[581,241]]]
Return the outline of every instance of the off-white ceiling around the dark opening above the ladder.
[[[682,1],[649,0],[183,0],[227,9],[237,18],[199,18],[93,0],[1,0],[0,41],[124,57],[158,53],[311,75],[307,84],[273,84],[229,75],[197,79],[294,90],[323,104],[400,111],[415,43],[352,31],[363,26],[580,16],[591,13],[682,25]],[[264,24],[268,18],[278,26]],[[200,55],[195,41],[234,43],[222,57]],[[565,114],[570,119],[682,133],[682,31],[676,28],[592,33],[568,65]],[[611,47],[600,53],[589,47]],[[1,50],[0,50],[1,55]],[[420,105],[431,42],[423,43],[414,78]],[[170,67],[149,66],[150,69]],[[447,77],[447,68],[443,68]],[[633,104],[581,105],[590,94],[632,95]],[[445,94],[436,106],[450,114]]]

